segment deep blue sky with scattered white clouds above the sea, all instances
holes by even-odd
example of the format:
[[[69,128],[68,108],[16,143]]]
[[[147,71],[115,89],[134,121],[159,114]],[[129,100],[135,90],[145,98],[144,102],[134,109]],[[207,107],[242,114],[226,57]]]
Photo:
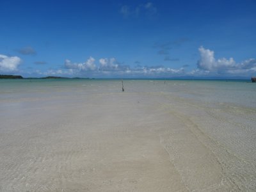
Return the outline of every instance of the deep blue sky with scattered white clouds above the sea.
[[[0,74],[249,79],[255,10],[255,0],[1,0]]]

